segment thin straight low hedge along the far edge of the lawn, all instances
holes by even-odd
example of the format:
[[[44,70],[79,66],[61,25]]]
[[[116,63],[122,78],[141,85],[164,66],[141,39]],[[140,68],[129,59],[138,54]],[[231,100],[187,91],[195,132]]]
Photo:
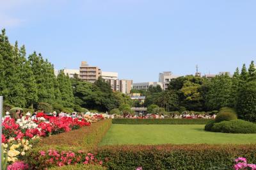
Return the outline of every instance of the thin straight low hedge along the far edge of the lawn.
[[[207,119],[113,119],[113,124],[127,125],[205,125]]]

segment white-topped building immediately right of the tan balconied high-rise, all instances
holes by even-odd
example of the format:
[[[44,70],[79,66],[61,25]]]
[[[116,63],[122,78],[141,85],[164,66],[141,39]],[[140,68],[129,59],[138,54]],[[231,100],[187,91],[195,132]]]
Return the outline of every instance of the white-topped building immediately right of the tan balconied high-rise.
[[[120,91],[118,73],[116,72],[102,72],[101,77],[105,82],[108,82],[109,86],[113,91]]]

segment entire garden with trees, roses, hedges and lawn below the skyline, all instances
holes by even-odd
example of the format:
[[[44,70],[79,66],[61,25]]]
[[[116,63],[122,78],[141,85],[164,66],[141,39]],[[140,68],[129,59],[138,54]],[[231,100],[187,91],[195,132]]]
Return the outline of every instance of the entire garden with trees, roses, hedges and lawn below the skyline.
[[[141,104],[55,77],[42,54],[0,35],[1,169],[256,169],[256,69],[150,87]],[[147,107],[135,113],[131,107]]]

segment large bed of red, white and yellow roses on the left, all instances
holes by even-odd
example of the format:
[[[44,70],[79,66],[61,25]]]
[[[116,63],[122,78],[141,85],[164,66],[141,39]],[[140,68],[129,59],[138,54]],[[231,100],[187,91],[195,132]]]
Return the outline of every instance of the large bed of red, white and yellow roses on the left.
[[[94,120],[93,122],[104,119],[104,117],[98,114],[96,116],[90,116],[90,118]],[[58,118],[46,116],[43,113],[38,113],[35,120],[22,118],[21,120],[15,121],[12,118],[6,118],[2,123],[3,153],[8,155],[8,164],[22,160],[27,151],[31,150],[33,147],[33,143],[38,141],[35,139],[70,132],[70,130],[76,130],[91,125],[91,123],[84,118]],[[13,166],[16,165],[13,164]]]

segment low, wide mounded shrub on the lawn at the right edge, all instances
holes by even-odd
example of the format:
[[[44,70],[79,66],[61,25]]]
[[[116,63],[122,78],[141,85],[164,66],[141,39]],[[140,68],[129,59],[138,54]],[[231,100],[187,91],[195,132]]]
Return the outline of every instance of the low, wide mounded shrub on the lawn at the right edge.
[[[221,121],[214,123],[212,131],[231,134],[256,134],[256,124],[244,120]]]

